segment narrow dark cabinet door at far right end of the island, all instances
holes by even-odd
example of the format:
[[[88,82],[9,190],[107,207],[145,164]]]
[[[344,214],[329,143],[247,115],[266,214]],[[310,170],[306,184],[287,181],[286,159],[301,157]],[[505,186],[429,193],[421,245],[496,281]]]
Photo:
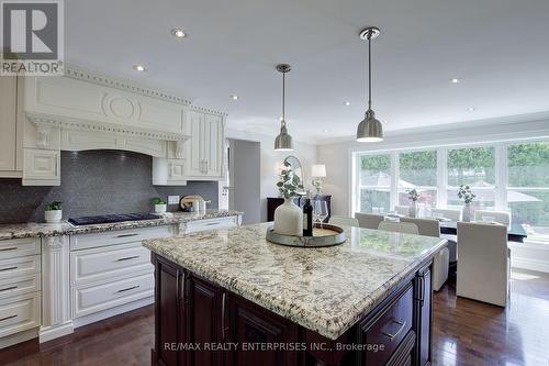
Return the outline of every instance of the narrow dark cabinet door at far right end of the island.
[[[426,267],[416,276],[415,320],[417,326],[416,353],[417,365],[424,366],[430,362],[430,324],[433,317],[433,291],[430,267]]]

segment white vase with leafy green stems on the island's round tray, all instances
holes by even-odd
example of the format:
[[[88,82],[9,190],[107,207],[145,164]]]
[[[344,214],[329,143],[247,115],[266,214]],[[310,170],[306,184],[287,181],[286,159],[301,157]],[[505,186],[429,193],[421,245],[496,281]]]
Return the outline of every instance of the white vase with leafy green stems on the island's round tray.
[[[303,191],[303,185],[298,175],[293,174],[290,163],[283,163],[277,188],[284,203],[274,210],[274,232],[283,235],[303,235],[303,212],[293,202],[293,198]]]

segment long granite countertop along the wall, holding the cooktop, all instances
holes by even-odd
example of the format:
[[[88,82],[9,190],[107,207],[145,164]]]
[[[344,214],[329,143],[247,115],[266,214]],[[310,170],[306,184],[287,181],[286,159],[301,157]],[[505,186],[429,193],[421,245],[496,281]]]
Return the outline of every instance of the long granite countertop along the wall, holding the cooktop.
[[[179,212],[170,212],[167,215],[163,215],[159,219],[153,219],[153,220],[124,221],[124,222],[81,225],[81,226],[75,226],[66,221],[55,224],[35,223],[35,222],[20,223],[20,224],[0,224],[0,240],[100,233],[113,230],[180,224],[190,221],[235,217],[239,214],[243,213],[237,211],[227,211],[227,210],[206,210],[205,212],[200,212],[200,213],[179,211]]]

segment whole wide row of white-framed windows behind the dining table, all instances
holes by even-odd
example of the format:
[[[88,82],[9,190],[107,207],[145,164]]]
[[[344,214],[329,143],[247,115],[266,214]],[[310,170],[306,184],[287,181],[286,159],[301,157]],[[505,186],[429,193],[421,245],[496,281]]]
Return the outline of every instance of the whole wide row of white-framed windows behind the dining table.
[[[528,241],[549,243],[549,142],[493,143],[383,153],[356,153],[354,210],[384,213],[410,206],[461,209],[460,185],[477,196],[472,209],[508,211]],[[441,164],[439,166],[439,164]]]

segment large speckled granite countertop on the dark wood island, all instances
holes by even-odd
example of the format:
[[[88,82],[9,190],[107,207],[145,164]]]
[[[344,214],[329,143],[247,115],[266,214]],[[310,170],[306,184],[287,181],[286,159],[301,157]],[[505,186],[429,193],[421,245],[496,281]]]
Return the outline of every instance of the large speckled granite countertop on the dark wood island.
[[[446,245],[446,240],[345,228],[324,248],[266,241],[271,223],[144,241],[144,246],[244,298],[336,340]]]

